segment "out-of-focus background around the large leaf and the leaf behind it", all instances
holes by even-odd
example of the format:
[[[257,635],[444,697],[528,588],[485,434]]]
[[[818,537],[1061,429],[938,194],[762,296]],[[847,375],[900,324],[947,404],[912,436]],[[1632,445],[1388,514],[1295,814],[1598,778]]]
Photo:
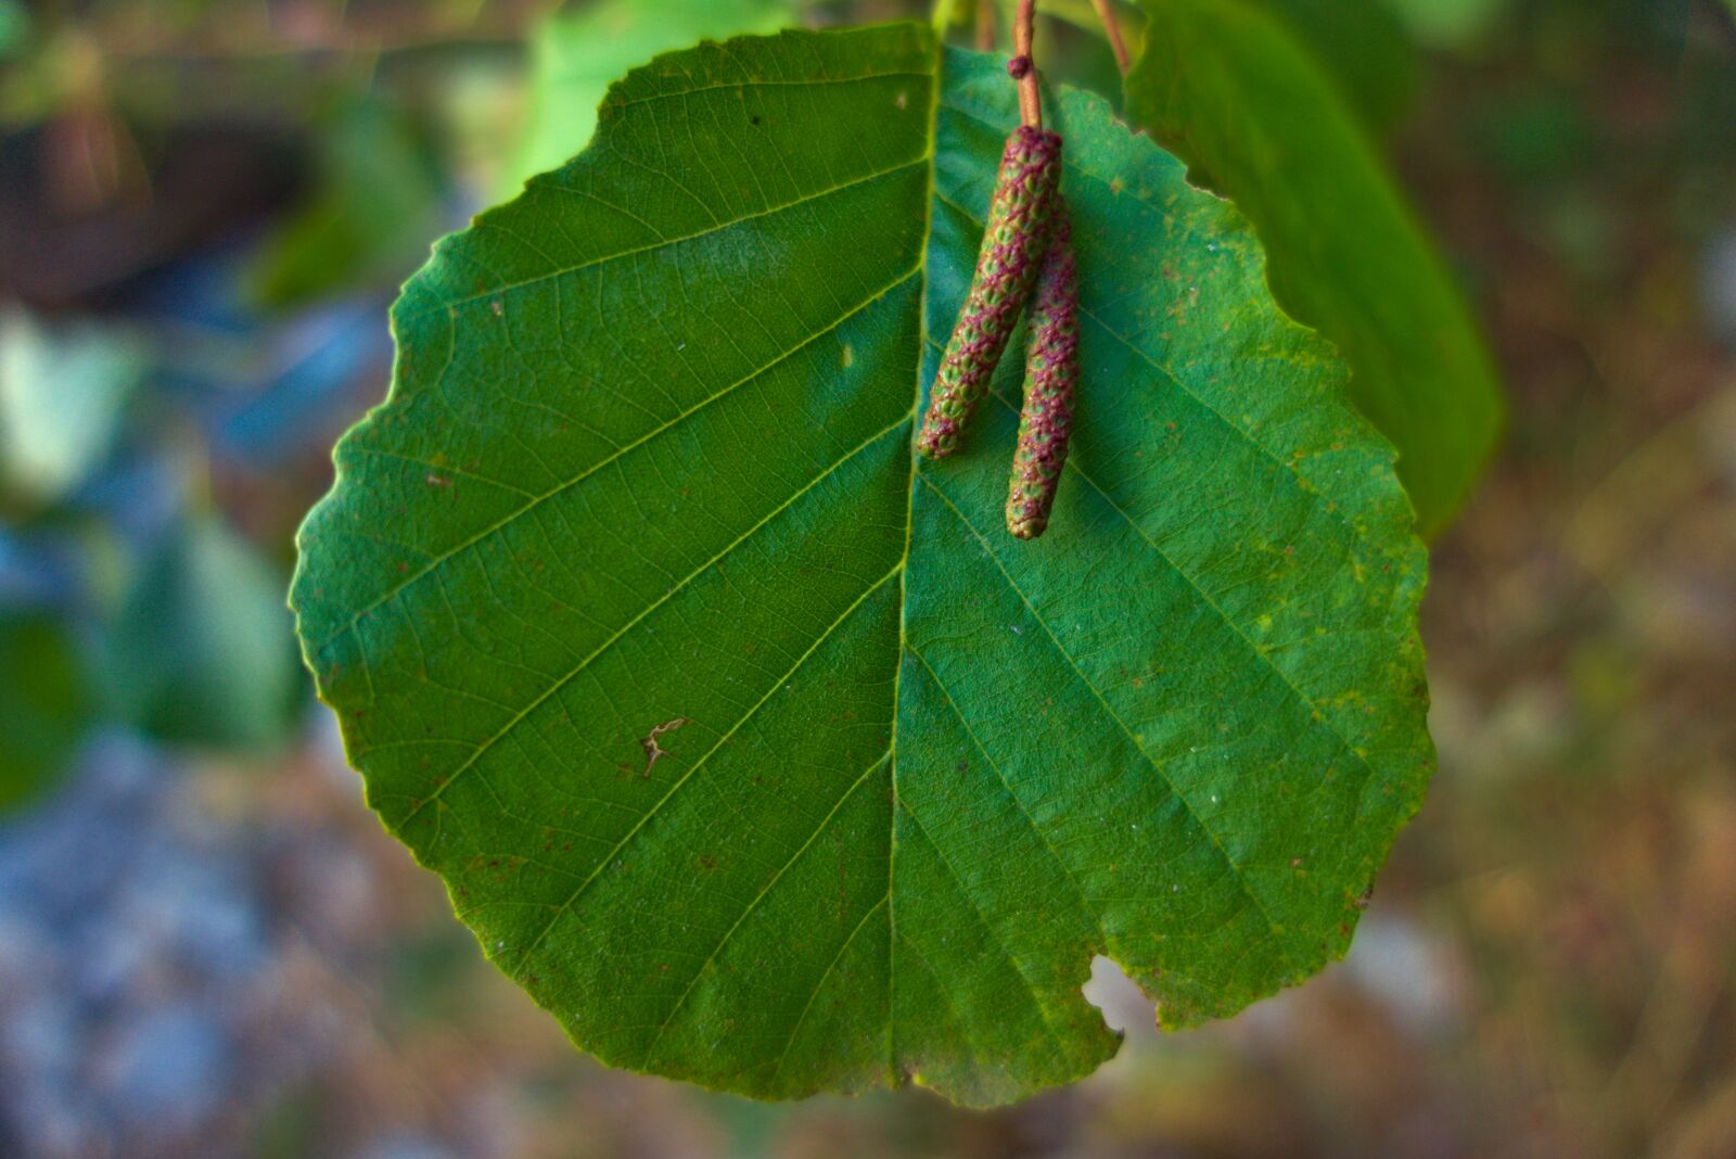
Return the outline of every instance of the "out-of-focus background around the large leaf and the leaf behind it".
[[[1736,21],[1243,2],[1510,390],[1436,553],[1441,776],[1342,966],[1161,1039],[1104,968],[1123,1055],[970,1114],[578,1057],[361,805],[283,611],[437,232],[654,52],[927,5],[0,0],[0,1154],[1736,1154]],[[1043,10],[1118,101],[1087,0]]]

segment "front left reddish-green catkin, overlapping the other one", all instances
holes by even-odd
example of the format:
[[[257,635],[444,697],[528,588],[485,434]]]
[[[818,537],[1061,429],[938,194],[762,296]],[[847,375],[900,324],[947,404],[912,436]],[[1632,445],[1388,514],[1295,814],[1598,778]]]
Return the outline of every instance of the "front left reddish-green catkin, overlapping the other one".
[[[958,449],[970,411],[988,392],[1049,246],[1059,182],[1059,134],[1031,125],[1012,130],[1000,158],[970,293],[941,356],[929,413],[917,437],[917,448],[929,458],[944,458]]]

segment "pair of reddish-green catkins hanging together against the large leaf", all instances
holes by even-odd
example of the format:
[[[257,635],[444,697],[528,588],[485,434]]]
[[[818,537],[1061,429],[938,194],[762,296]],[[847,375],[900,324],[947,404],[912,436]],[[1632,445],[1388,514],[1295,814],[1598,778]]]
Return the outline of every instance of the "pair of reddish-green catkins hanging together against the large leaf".
[[[1035,540],[1049,526],[1068,456],[1078,383],[1078,272],[1061,196],[1061,135],[1031,125],[1016,128],[1002,153],[976,276],[917,435],[917,448],[929,458],[958,449],[1026,304],[1031,337],[1007,531]]]

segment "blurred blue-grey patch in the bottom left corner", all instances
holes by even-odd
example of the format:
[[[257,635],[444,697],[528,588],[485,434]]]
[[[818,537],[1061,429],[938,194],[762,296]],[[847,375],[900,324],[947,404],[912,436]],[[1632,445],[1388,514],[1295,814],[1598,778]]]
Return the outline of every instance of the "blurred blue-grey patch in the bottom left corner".
[[[0,1123],[7,1156],[198,1154],[243,1084],[269,946],[243,833],[108,736],[0,826]],[[191,1149],[191,1150],[189,1150]]]

